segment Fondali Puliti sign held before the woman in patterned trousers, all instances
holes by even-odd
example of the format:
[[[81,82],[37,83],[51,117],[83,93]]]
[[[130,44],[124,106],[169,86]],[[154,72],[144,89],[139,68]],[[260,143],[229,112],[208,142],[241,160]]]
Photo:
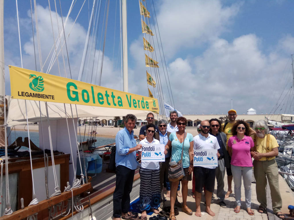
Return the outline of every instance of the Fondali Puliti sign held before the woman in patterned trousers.
[[[142,145],[141,161],[143,162],[161,162],[165,161],[165,145]]]

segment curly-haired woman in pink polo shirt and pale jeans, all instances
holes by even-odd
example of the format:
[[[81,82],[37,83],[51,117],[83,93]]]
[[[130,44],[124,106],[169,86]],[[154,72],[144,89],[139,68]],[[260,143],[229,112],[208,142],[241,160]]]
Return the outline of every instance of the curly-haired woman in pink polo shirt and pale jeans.
[[[251,210],[251,181],[252,181],[252,158],[250,151],[253,151],[254,142],[249,137],[250,127],[244,120],[237,120],[232,127],[233,137],[228,141],[228,153],[232,157],[231,169],[235,184],[235,199],[237,206],[235,213],[240,212],[241,206],[241,184],[245,188],[245,202],[249,215],[254,215]]]

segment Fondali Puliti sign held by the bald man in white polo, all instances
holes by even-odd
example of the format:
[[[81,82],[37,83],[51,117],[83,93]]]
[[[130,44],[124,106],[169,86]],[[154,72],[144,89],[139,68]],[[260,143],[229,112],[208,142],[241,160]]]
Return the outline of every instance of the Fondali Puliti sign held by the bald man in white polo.
[[[193,158],[193,166],[218,166],[218,157],[216,155],[216,149],[210,150],[195,150],[194,149],[194,158]]]

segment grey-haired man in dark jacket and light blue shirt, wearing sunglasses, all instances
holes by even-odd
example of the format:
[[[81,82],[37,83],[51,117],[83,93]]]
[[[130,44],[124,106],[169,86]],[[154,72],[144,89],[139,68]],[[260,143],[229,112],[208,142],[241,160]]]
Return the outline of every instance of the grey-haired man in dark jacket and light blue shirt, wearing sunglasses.
[[[168,142],[168,137],[171,134],[171,132],[166,131],[166,126],[168,122],[166,120],[159,120],[158,121],[158,129],[159,133],[155,133],[155,138],[160,141],[161,144],[164,144],[164,146]],[[168,163],[171,159],[171,150],[168,151],[168,153],[165,155],[165,161],[159,162],[160,165],[160,191],[161,191],[161,203],[160,207],[161,209],[164,207],[164,194],[163,194],[163,181],[166,179],[168,180]],[[164,178],[165,177],[165,178]]]

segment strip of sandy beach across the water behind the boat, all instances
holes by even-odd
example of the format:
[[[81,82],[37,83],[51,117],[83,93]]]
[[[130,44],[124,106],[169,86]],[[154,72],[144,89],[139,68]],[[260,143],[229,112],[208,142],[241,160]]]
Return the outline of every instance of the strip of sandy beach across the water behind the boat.
[[[134,129],[134,135],[139,135],[141,126],[137,126],[136,129]],[[96,136],[98,137],[115,137],[116,133],[121,130],[120,127],[113,127],[113,126],[80,126],[78,128],[78,134],[81,135],[88,135],[88,132],[91,132],[91,130],[96,130],[98,134]],[[16,125],[15,130],[18,131],[27,131],[26,125]],[[39,131],[39,126],[37,124],[30,124],[29,125],[30,131]],[[81,132],[79,132],[79,130]],[[197,128],[196,127],[186,127],[186,132],[191,133],[193,136],[198,135]]]

